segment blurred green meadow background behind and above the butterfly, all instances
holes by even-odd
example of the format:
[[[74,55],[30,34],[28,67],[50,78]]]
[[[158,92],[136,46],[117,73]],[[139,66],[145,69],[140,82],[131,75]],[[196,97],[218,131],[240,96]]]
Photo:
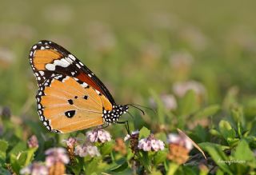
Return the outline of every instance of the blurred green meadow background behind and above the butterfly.
[[[255,6],[252,0],[1,1],[0,105],[37,116],[28,54],[41,39],[76,55],[118,104],[151,106],[152,94],[173,94],[177,82],[191,80],[207,105],[227,92],[255,99]]]

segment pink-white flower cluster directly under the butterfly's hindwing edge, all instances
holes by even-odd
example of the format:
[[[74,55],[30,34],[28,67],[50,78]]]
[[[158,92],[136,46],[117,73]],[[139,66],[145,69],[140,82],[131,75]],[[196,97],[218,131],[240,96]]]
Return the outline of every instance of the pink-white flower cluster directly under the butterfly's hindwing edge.
[[[111,141],[110,133],[104,129],[94,129],[86,133],[86,137],[90,142],[101,142]]]

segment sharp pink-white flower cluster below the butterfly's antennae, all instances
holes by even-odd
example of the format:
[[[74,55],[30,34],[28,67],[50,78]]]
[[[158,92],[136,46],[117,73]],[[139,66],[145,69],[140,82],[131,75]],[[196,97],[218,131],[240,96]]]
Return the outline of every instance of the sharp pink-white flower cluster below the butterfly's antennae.
[[[159,151],[165,148],[165,144],[163,141],[154,138],[153,134],[150,134],[147,138],[142,138],[138,141],[138,149],[142,149],[143,151]]]

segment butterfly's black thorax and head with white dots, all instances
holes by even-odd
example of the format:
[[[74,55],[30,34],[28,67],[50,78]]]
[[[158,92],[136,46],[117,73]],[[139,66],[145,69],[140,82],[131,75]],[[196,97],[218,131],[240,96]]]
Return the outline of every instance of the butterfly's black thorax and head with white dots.
[[[103,108],[103,121],[106,125],[110,125],[111,123],[116,123],[119,117],[128,111],[127,105],[113,105],[112,110],[106,110]]]

